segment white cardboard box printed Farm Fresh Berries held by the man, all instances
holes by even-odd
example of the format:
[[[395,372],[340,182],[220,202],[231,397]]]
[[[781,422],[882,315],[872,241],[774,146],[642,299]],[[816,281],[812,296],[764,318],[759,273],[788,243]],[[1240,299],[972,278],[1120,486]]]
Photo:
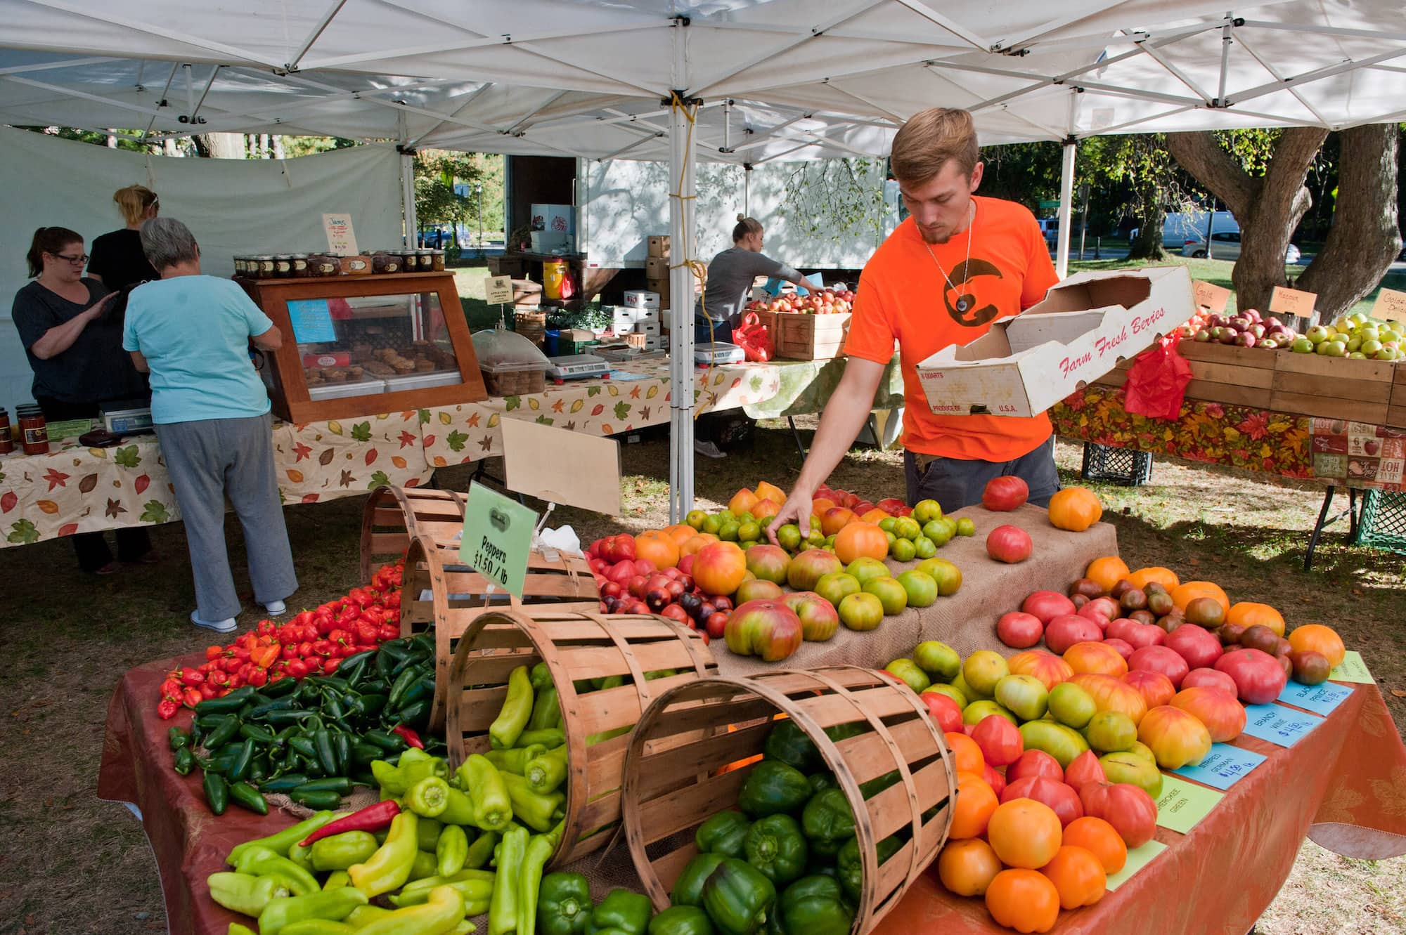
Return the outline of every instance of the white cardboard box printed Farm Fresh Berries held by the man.
[[[932,411],[1036,416],[1195,312],[1185,267],[1080,272],[984,336],[918,364]]]

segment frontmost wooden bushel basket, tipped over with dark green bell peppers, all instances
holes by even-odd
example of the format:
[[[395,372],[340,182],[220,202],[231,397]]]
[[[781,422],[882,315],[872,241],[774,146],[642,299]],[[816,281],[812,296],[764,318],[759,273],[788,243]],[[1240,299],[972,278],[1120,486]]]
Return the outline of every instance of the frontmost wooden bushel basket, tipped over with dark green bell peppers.
[[[863,935],[938,855],[956,792],[952,755],[927,706],[903,682],[873,670],[778,670],[700,679],[659,695],[640,717],[624,761],[623,817],[634,869],[655,908],[668,907],[673,882],[697,855],[695,830],[735,807],[779,713],[815,743],[855,813],[865,883],[853,931]],[[863,733],[831,741],[825,729],[839,724]],[[891,771],[900,781],[866,800],[859,785]],[[904,845],[877,865],[876,845],[893,834]]]

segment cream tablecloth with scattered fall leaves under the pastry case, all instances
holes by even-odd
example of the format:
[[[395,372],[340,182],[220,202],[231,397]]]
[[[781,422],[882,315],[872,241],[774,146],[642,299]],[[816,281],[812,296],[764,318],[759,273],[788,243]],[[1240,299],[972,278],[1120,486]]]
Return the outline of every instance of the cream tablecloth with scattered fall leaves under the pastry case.
[[[700,411],[748,406],[780,380],[762,365],[696,371]],[[626,365],[613,379],[571,380],[531,396],[381,413],[325,423],[274,423],[273,449],[284,503],[321,503],[380,484],[415,487],[434,468],[502,453],[503,418],[613,435],[669,420],[666,361]],[[0,458],[0,548],[120,526],[180,519],[155,435],[118,448],[53,444],[48,455]]]

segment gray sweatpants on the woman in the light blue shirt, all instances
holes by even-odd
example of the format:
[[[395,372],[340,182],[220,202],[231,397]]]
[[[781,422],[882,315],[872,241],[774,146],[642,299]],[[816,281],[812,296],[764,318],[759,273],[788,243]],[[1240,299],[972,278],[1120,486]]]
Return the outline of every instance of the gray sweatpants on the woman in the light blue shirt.
[[[297,591],[273,466],[273,417],[170,423],[156,427],[156,439],[186,521],[200,619],[214,623],[240,609],[225,550],[226,496],[245,529],[254,599],[267,604]]]

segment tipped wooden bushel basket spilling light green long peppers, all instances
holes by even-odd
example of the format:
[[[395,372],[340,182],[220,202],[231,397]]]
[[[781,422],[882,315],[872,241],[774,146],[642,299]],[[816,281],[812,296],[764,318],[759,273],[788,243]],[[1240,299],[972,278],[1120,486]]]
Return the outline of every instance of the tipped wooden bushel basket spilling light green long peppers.
[[[453,768],[489,748],[488,727],[503,706],[508,677],[519,665],[537,663],[551,670],[567,733],[565,833],[551,859],[551,866],[561,868],[609,845],[620,821],[630,734],[591,747],[586,737],[633,726],[661,694],[717,675],[717,663],[702,635],[664,616],[546,606],[481,614],[460,637],[444,679],[451,694],[446,740]],[[676,674],[645,679],[645,672],[659,670]],[[574,688],[575,681],[609,675],[631,681],[579,695]]]

